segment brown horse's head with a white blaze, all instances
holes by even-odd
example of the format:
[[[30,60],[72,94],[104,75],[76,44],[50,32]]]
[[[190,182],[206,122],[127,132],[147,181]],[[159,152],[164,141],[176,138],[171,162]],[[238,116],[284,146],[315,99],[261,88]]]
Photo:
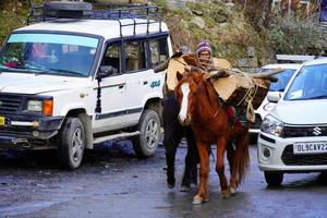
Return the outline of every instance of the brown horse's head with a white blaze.
[[[189,125],[192,120],[194,104],[196,102],[197,86],[204,74],[196,70],[186,70],[183,74],[177,73],[178,85],[174,89],[180,104],[179,121],[182,125]]]

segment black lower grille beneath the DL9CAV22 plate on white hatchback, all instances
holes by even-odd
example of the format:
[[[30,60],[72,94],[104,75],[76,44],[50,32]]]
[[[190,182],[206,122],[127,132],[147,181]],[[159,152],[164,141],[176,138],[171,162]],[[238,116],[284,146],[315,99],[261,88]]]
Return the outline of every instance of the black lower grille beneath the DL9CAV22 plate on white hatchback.
[[[327,154],[294,155],[293,145],[286,146],[281,160],[287,166],[327,165]]]

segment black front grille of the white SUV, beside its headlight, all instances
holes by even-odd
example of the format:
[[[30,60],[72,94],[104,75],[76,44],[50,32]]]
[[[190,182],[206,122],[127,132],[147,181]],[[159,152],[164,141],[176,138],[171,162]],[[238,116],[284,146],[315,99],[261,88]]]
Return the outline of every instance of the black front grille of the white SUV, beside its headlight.
[[[0,94],[0,114],[17,112],[22,102],[21,96]]]

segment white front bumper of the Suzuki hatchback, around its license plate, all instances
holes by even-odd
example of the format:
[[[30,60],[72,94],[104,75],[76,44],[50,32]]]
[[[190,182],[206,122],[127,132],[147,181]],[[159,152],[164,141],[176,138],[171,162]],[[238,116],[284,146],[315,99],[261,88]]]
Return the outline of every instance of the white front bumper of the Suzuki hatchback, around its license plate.
[[[261,133],[257,142],[258,167],[262,171],[315,172],[327,170],[327,153],[296,155],[295,142],[327,142],[326,136],[281,138]]]

